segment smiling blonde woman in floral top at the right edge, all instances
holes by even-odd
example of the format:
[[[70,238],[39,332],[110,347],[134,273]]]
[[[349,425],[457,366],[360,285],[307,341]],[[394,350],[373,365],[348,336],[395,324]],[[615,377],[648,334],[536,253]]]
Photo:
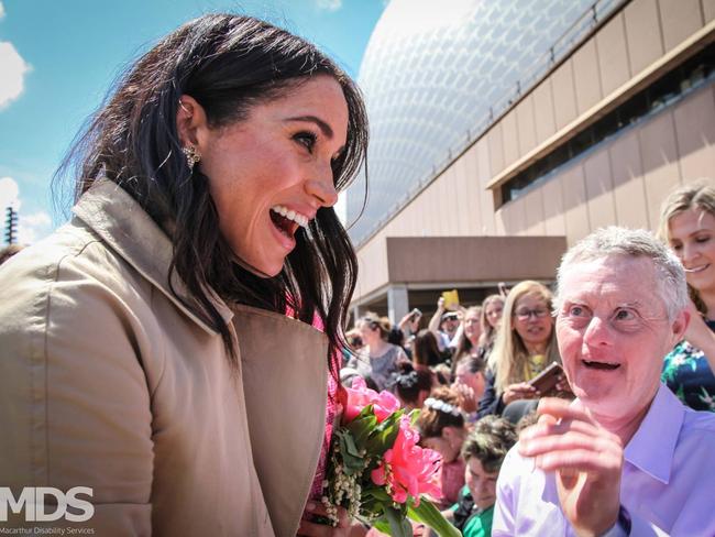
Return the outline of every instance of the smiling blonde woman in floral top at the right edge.
[[[691,408],[715,412],[715,182],[673,190],[660,235],[683,264],[694,298],[685,339],[666,355],[662,381]]]

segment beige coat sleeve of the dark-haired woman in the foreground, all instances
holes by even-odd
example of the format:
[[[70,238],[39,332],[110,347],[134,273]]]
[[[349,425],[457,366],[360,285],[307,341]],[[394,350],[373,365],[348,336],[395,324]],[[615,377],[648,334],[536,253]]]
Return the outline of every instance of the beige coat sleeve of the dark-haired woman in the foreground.
[[[6,273],[11,281],[0,285],[0,483],[86,486],[94,514],[40,523],[23,512],[7,524],[151,535],[153,421],[141,326],[85,272],[53,266],[47,277],[44,270]]]

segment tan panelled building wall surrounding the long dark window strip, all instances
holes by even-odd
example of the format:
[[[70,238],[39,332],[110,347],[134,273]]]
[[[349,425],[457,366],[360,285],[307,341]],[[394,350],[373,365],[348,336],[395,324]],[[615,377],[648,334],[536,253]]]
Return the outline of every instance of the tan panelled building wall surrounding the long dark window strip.
[[[360,248],[355,298],[389,283],[388,237],[565,235],[571,244],[612,223],[654,229],[671,188],[715,176],[713,85],[498,209],[498,188],[487,185],[714,18],[715,0],[629,2]]]

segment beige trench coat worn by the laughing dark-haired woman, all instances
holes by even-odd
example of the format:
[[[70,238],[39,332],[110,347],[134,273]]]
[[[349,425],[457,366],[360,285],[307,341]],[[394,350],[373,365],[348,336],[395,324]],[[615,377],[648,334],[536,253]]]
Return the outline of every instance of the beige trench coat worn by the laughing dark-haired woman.
[[[0,267],[0,486],[89,486],[95,514],[0,526],[295,535],[324,429],[326,337],[216,300],[232,370],[170,293],[172,245],[127,193],[100,182],[74,212]]]

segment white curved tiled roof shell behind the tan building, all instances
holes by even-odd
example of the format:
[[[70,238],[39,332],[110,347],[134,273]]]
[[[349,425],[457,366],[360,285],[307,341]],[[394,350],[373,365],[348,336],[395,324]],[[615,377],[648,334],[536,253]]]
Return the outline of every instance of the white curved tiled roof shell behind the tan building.
[[[559,39],[593,3],[392,0],[359,76],[371,123],[370,197],[352,239],[360,243],[382,227],[463,150],[517,83],[526,90],[538,81],[543,73],[535,69],[552,47],[557,57],[564,53],[559,47],[568,44]],[[348,193],[348,222],[360,213],[363,195],[358,179]]]

